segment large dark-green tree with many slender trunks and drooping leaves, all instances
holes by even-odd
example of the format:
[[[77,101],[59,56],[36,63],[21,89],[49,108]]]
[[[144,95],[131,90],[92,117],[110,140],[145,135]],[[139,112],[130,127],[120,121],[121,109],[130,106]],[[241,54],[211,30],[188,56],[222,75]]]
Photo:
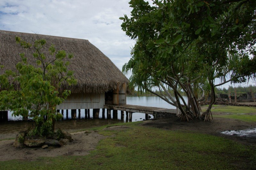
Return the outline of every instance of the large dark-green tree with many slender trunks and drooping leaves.
[[[181,120],[211,120],[214,86],[244,81],[255,73],[253,66],[246,72],[237,68],[255,63],[254,0],[156,0],[152,6],[131,0],[129,4],[131,17],[120,17],[121,26],[136,44],[123,72],[132,70],[130,82],[139,91],[162,91],[156,95],[179,107]],[[215,78],[222,82],[214,84]],[[211,103],[201,115],[197,89],[205,84],[211,89]]]

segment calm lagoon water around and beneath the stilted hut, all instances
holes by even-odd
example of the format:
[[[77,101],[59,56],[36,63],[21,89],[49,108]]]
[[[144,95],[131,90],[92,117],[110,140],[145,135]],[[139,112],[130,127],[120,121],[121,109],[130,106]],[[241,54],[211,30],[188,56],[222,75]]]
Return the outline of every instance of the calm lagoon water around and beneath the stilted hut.
[[[184,97],[185,101],[187,102],[187,98]],[[168,104],[161,98],[157,96],[129,96],[127,97],[127,104],[132,104],[132,105],[141,105],[141,106],[151,106],[151,107],[162,107],[162,108],[168,108],[168,109],[175,109],[174,106],[171,104]],[[84,119],[85,113],[84,109],[81,109],[81,119],[78,120],[71,120],[71,110],[68,110],[68,119],[66,120],[66,110],[64,110],[64,120],[62,121],[57,121],[56,123],[56,129],[61,128],[63,130],[72,132],[76,131],[78,129],[84,129],[84,128],[92,128],[96,126],[102,126],[106,124],[114,124],[118,122],[128,122],[126,120],[126,114],[124,113],[124,120],[121,120],[121,111],[118,111],[118,119],[113,120],[113,119],[107,119],[107,110],[105,111],[105,119],[102,119],[102,110],[100,109],[100,119],[92,119],[92,109],[90,110],[90,118],[91,119]],[[78,111],[77,115],[78,117]],[[111,112],[111,117],[113,117],[113,113]],[[153,116],[152,116],[153,117]],[[141,121],[145,119],[145,114],[144,113],[133,113],[132,114],[132,121]],[[12,113],[8,112],[8,122],[5,123],[0,123],[0,140],[3,138],[10,138],[10,137],[15,137],[15,135],[20,131],[20,130],[25,130],[29,126],[32,125],[32,121],[17,121],[17,120],[22,120],[21,117],[12,117]]]

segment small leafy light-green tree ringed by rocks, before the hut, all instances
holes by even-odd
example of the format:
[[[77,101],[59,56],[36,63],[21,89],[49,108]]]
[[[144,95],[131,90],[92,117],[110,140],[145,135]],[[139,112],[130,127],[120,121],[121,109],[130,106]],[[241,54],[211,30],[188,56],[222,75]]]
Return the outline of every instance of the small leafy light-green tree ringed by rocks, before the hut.
[[[22,61],[16,64],[17,71],[7,70],[0,75],[0,110],[10,109],[12,116],[32,118],[38,132],[48,135],[54,131],[55,121],[62,117],[56,113],[56,106],[71,93],[64,90],[60,94],[61,84],[76,83],[73,72],[67,68],[69,62],[64,61],[73,55],[63,50],[56,51],[54,45],[46,55],[43,52],[44,39],[31,44],[16,37],[16,42],[24,49],[33,50],[35,63],[28,63],[25,54],[21,53]]]

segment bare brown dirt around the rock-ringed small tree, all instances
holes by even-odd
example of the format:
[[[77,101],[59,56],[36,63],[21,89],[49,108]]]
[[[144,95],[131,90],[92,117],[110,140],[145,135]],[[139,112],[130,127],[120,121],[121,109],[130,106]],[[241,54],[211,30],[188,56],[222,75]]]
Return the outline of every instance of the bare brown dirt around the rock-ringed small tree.
[[[83,132],[72,133],[74,139],[68,145],[62,147],[42,148],[23,148],[12,147],[14,140],[0,141],[0,161],[11,159],[36,159],[38,157],[56,157],[60,155],[87,155],[94,150],[97,143],[105,138],[96,132],[85,134]]]

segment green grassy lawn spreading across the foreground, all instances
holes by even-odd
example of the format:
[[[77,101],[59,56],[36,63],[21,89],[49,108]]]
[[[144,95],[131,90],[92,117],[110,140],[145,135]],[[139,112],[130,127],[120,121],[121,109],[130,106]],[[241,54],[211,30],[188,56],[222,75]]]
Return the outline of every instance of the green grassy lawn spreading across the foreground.
[[[108,137],[86,156],[0,162],[1,169],[254,169],[256,152],[234,141],[199,133],[125,123],[121,131],[93,128]],[[106,127],[106,126],[105,126]],[[57,150],[57,149],[56,149]]]

